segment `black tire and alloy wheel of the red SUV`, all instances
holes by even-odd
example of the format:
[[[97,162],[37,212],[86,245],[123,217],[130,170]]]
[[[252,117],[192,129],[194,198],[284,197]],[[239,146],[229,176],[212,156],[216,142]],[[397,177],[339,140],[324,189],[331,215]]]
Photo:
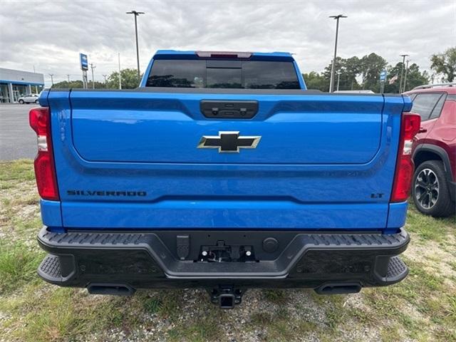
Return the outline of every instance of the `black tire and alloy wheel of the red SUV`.
[[[455,212],[442,162],[428,160],[418,166],[413,175],[412,197],[423,214],[448,217]]]

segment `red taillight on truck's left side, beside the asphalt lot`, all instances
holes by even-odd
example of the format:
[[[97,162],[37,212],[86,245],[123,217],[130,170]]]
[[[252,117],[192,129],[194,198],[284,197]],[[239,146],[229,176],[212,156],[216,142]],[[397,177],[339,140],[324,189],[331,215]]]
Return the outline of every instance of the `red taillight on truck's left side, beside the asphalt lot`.
[[[58,200],[56,167],[52,152],[51,117],[48,107],[32,108],[28,113],[30,127],[36,132],[38,154],[35,158],[35,177],[38,193],[43,199]]]

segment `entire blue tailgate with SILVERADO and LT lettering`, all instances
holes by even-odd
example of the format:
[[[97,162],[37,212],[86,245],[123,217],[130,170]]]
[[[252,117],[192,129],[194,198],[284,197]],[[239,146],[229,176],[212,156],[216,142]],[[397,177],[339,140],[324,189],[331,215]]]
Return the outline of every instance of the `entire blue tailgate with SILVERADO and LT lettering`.
[[[202,100],[257,101],[258,111],[206,118]],[[64,227],[387,225],[401,96],[53,90],[48,104]],[[239,153],[197,148],[227,131],[261,139]]]

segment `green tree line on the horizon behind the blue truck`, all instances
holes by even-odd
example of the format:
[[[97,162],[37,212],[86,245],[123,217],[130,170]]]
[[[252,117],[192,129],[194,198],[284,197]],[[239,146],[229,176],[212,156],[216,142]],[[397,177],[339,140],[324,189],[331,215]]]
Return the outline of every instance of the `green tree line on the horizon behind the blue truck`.
[[[407,81],[405,91],[427,83],[452,82],[456,80],[456,46],[448,48],[443,53],[437,53],[430,57],[431,70],[440,75],[438,79],[435,75],[430,75],[427,71],[420,71],[416,63],[411,63],[407,68]],[[358,58],[336,58],[335,86],[339,83],[339,90],[373,90],[374,93],[380,92],[380,72],[387,71],[384,85],[385,93],[399,93],[400,73],[405,67],[402,62],[390,65],[382,56],[376,53]],[[122,88],[133,89],[139,86],[138,74],[136,69],[126,68],[120,71]],[[326,66],[322,73],[311,71],[304,73],[304,80],[308,89],[318,89],[321,91],[329,90],[331,78],[331,63]],[[142,76],[141,76],[142,77]],[[119,88],[119,73],[115,71],[108,76],[106,82],[88,82],[89,88]],[[53,88],[83,88],[82,81],[62,81],[55,83]]]

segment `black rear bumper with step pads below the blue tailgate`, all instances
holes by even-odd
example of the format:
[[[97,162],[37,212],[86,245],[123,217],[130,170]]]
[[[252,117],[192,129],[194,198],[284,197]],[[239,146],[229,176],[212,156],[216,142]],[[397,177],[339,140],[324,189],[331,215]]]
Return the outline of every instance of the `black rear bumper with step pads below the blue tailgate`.
[[[264,244],[268,238],[276,240],[274,248]],[[239,250],[241,254],[252,251],[252,257],[229,262],[202,259],[202,250],[221,245],[221,241],[230,250],[234,247],[237,254]],[[409,241],[404,229],[385,235],[292,231],[54,233],[44,227],[38,242],[49,254],[38,267],[38,274],[52,284],[88,287],[95,293],[103,292],[103,284],[125,292],[224,285],[313,288],[323,294],[337,289],[359,291],[363,286],[403,280],[408,269],[397,256]]]

